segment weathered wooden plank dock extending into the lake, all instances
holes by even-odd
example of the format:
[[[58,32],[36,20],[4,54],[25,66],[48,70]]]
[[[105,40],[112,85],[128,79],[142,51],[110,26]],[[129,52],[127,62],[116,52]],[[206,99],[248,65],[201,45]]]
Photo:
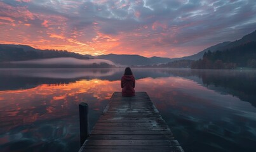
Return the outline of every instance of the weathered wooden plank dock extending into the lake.
[[[114,92],[79,152],[183,151],[146,92]]]

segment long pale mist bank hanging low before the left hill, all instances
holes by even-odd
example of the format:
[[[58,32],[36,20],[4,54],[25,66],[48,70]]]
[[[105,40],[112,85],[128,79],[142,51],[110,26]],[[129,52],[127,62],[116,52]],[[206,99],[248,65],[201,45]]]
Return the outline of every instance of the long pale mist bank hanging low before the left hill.
[[[47,58],[38,60],[27,60],[27,61],[11,61],[15,64],[36,64],[36,65],[92,65],[107,63],[109,65],[115,65],[112,61],[103,59],[88,59],[81,60],[77,58]]]

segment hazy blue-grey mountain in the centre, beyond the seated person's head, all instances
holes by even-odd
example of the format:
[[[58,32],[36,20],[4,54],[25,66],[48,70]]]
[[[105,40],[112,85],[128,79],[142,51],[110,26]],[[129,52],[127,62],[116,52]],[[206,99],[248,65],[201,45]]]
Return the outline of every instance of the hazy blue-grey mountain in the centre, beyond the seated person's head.
[[[172,61],[170,58],[151,57],[147,58],[139,55],[130,54],[107,54],[97,56],[99,59],[110,60],[119,65],[153,65]]]

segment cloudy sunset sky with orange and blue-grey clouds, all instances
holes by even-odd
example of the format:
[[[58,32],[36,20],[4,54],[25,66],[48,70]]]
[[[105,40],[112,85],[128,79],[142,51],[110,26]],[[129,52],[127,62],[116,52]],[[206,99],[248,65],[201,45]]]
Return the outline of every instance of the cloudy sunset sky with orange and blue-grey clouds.
[[[179,58],[256,30],[255,0],[0,0],[0,43]]]

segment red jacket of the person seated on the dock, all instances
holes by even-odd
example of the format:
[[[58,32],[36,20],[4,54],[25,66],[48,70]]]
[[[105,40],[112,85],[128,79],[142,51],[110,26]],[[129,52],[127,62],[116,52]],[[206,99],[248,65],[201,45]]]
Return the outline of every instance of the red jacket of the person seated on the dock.
[[[121,79],[122,96],[135,96],[135,78],[133,75],[123,75]]]

